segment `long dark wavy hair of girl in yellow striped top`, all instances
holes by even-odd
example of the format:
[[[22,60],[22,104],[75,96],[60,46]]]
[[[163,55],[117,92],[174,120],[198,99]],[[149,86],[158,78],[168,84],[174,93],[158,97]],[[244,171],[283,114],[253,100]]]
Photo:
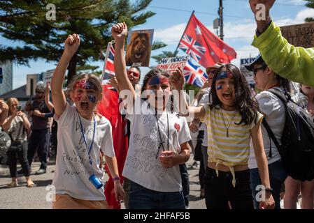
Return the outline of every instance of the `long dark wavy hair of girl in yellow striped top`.
[[[213,97],[213,103],[210,105],[210,109],[216,109],[220,107],[221,101],[217,96],[217,91],[215,88],[217,75],[221,72],[231,72],[234,77],[234,91],[235,91],[235,99],[234,99],[234,107],[241,114],[242,118],[237,125],[241,123],[245,125],[249,125],[254,121],[257,122],[257,112],[259,112],[259,107],[255,98],[252,98],[250,93],[250,87],[248,86],[248,82],[246,81],[244,75],[241,71],[234,65],[228,63],[217,69],[215,75],[213,77],[213,83],[211,85],[211,95]]]

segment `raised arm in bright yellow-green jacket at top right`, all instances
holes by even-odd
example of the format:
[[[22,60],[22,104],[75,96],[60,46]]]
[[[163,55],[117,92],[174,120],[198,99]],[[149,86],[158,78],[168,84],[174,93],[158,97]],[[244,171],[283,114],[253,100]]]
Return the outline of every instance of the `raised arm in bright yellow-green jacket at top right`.
[[[259,49],[265,63],[281,77],[314,86],[314,47],[294,47],[281,35],[280,27],[271,21],[269,10],[276,0],[249,0],[257,23],[252,45]],[[265,17],[259,20],[264,4]]]

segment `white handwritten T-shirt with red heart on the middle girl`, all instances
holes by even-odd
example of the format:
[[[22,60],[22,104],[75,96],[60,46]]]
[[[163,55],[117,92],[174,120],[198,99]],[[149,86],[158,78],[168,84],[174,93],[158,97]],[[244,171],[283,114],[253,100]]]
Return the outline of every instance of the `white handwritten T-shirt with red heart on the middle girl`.
[[[127,119],[131,122],[131,136],[122,175],[150,190],[178,192],[182,190],[180,168],[176,165],[165,169],[160,164],[159,155],[163,148],[159,146],[159,132],[164,150],[180,153],[180,144],[191,140],[187,121],[184,117],[170,112],[157,113],[155,116],[155,109],[150,109],[148,102],[143,102],[141,109],[142,114],[127,114]]]

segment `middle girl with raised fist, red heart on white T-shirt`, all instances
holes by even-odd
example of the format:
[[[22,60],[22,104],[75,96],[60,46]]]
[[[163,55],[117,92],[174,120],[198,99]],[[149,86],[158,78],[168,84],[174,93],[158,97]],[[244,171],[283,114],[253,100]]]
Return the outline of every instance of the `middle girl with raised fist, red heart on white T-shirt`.
[[[150,70],[143,79],[141,97],[136,96],[124,61],[127,25],[116,24],[111,32],[117,84],[131,97],[127,104],[131,134],[122,174],[131,180],[129,208],[185,208],[179,164],[190,158],[191,137],[185,118],[166,111],[169,75]],[[136,112],[138,107],[141,112]]]

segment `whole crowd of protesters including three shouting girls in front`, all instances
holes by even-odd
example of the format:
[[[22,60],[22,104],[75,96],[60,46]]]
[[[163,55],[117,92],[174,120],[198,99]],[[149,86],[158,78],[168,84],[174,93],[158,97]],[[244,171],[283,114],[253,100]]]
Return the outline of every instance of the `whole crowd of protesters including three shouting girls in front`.
[[[141,70],[127,69],[124,59],[127,25],[112,27],[116,75],[109,84],[118,93],[130,93],[129,98],[119,98],[128,139],[122,174],[112,126],[95,112],[103,94],[99,79],[79,75],[66,93],[62,90],[66,67],[80,45],[77,34],[68,36],[52,77],[52,102],[49,84],[36,88],[36,100],[27,103],[26,113],[16,98],[0,100],[0,126],[12,141],[7,153],[12,178],[8,187],[18,185],[17,157],[27,187],[34,187],[30,177],[34,155],[41,162],[35,174],[45,174],[52,144],[57,155],[53,208],[108,208],[100,180],[104,157],[115,198],[123,200],[126,208],[185,209],[190,187],[185,163],[192,151],[192,167],[199,168],[199,197],[207,208],[279,209],[281,200],[284,208],[297,208],[301,193],[301,208],[313,209],[314,180],[290,176],[275,141],[280,144],[283,137],[287,109],[276,92],[292,95],[314,121],[314,75],[310,72],[314,50],[294,47],[281,36],[269,15],[274,0],[249,2],[253,13],[258,3],[266,7],[266,20],[256,20],[252,43],[260,54],[246,66],[254,73],[256,92],[236,66],[223,63],[206,68],[208,80],[191,103],[183,93],[180,68],[171,74],[152,69],[139,86]],[[298,82],[299,89],[292,91],[291,81]],[[178,98],[173,111],[171,94],[175,91]],[[138,105],[140,114],[136,113]],[[192,120],[185,118],[191,114]],[[257,190],[259,185],[263,187]],[[261,190],[263,199],[259,199]]]

